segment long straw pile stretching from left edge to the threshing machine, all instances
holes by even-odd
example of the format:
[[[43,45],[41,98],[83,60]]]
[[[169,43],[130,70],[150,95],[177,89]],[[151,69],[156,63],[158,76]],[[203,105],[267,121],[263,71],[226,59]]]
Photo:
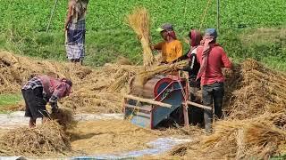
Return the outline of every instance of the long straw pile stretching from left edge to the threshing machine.
[[[60,100],[64,108],[76,113],[118,113],[122,111],[122,96],[128,92],[128,81],[139,72],[137,66],[106,64],[90,69],[52,60],[35,60],[10,52],[0,52],[0,93],[20,92],[21,85],[32,76],[47,74],[68,77],[73,93]]]

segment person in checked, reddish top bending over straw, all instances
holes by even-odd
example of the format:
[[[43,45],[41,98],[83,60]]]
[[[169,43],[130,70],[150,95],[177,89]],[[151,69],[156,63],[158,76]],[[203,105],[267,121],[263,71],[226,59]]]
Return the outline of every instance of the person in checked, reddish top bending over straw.
[[[37,118],[42,123],[48,119],[46,102],[52,107],[52,113],[57,112],[57,100],[69,96],[72,82],[69,79],[55,79],[50,76],[35,76],[21,88],[26,104],[25,116],[29,117],[29,127],[36,126]]]

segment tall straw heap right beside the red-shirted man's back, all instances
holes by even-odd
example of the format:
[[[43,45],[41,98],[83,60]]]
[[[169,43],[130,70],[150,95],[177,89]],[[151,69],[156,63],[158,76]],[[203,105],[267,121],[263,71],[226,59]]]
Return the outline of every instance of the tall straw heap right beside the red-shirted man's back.
[[[225,100],[228,118],[245,119],[285,110],[286,75],[265,68],[256,60],[245,60],[228,84]]]

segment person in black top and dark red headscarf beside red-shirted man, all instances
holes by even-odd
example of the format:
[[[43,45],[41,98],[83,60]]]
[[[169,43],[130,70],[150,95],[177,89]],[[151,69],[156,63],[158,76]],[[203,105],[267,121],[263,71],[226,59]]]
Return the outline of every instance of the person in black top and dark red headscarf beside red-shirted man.
[[[182,68],[183,71],[189,72],[189,92],[190,92],[190,100],[196,99],[196,93],[199,90],[200,83],[197,80],[199,63],[197,60],[197,48],[202,40],[201,33],[196,29],[191,29],[189,31],[189,51],[178,58],[178,60],[174,60],[173,62],[180,60],[189,60],[188,66]]]

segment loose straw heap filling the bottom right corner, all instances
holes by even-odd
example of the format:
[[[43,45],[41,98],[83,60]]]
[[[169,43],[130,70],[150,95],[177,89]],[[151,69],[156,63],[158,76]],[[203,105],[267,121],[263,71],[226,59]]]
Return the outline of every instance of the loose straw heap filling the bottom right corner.
[[[270,118],[269,118],[270,117]],[[286,119],[270,120],[273,117],[285,118],[285,113],[265,114],[255,119],[222,121],[215,124],[215,132],[201,136],[189,144],[173,150],[181,154],[182,148],[187,157],[195,159],[264,159],[279,156],[286,151],[286,130],[282,128]],[[279,120],[280,119],[280,120]]]

